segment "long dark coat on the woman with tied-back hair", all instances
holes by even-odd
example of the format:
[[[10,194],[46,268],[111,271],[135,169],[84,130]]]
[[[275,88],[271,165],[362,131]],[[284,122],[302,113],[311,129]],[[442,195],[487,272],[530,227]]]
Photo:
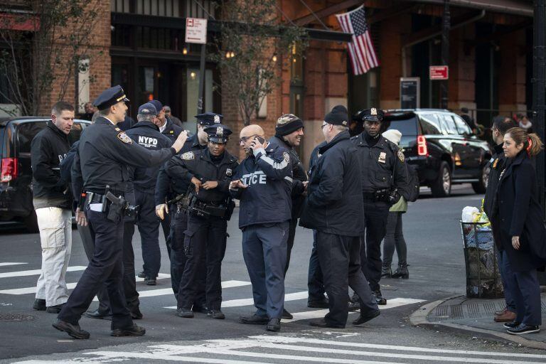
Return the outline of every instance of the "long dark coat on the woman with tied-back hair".
[[[537,198],[535,167],[527,151],[521,151],[505,168],[497,189],[498,218],[503,249],[515,272],[546,264],[546,228]],[[519,236],[520,250],[511,237]]]

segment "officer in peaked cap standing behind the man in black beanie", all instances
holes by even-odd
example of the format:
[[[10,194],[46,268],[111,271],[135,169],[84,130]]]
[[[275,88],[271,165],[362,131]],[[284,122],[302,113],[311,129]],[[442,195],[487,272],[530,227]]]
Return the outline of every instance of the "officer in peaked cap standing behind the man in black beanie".
[[[381,241],[386,233],[389,208],[400,199],[397,186],[407,183],[407,168],[402,151],[380,133],[382,110],[375,107],[365,109],[359,117],[364,121],[364,132],[351,140],[362,166],[365,233],[360,238],[361,267],[377,303],[387,304],[379,286]]]

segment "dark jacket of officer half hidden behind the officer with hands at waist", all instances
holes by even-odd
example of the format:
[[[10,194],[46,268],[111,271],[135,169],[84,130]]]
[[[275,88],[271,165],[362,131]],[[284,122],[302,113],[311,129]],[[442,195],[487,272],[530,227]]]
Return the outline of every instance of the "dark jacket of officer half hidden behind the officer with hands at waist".
[[[197,135],[193,135],[186,139],[186,143],[182,147],[179,154],[184,154],[188,151],[200,151],[206,148],[206,145],[200,145],[197,139]],[[191,179],[191,178],[190,178]],[[154,199],[156,205],[161,205],[178,195],[183,195],[188,192],[189,181],[179,178],[171,178],[165,171],[165,165],[161,166],[157,176],[156,193]]]

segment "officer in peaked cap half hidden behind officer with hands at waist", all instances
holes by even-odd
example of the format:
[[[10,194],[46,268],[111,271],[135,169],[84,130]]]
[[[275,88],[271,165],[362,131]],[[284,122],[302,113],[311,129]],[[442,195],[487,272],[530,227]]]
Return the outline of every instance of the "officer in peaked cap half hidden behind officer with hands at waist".
[[[223,116],[215,114],[213,112],[205,112],[204,114],[196,115],[197,119],[197,134],[189,137],[184,144],[181,153],[188,151],[200,151],[207,147],[208,135],[205,132],[205,128],[211,125],[218,125],[222,121]],[[167,251],[171,258],[171,286],[175,296],[178,294],[178,288],[184,272],[184,266],[186,265],[186,255],[184,254],[184,232],[188,223],[188,215],[185,209],[177,208],[176,203],[168,206],[166,201],[180,196],[185,196],[188,192],[189,182],[185,180],[179,180],[176,178],[170,178],[165,171],[165,168],[161,168],[156,184],[156,215],[161,220],[169,218],[169,210],[173,210],[173,220],[171,222],[171,245],[167,245]],[[204,264],[203,264],[204,267]],[[198,277],[202,279],[200,284],[197,284],[198,292],[196,293],[196,301],[193,304],[193,311],[207,313],[205,307],[205,269],[203,273],[198,274]]]

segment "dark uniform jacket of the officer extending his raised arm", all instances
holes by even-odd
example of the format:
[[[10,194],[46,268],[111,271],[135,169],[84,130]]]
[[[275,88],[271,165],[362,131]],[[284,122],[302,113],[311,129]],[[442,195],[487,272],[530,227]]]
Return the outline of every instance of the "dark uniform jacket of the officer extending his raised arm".
[[[129,166],[159,166],[174,154],[173,148],[148,150],[108,119],[99,117],[82,132],[73,178],[82,178],[85,191],[105,193],[105,187],[110,186],[114,193],[122,194],[130,181]]]

